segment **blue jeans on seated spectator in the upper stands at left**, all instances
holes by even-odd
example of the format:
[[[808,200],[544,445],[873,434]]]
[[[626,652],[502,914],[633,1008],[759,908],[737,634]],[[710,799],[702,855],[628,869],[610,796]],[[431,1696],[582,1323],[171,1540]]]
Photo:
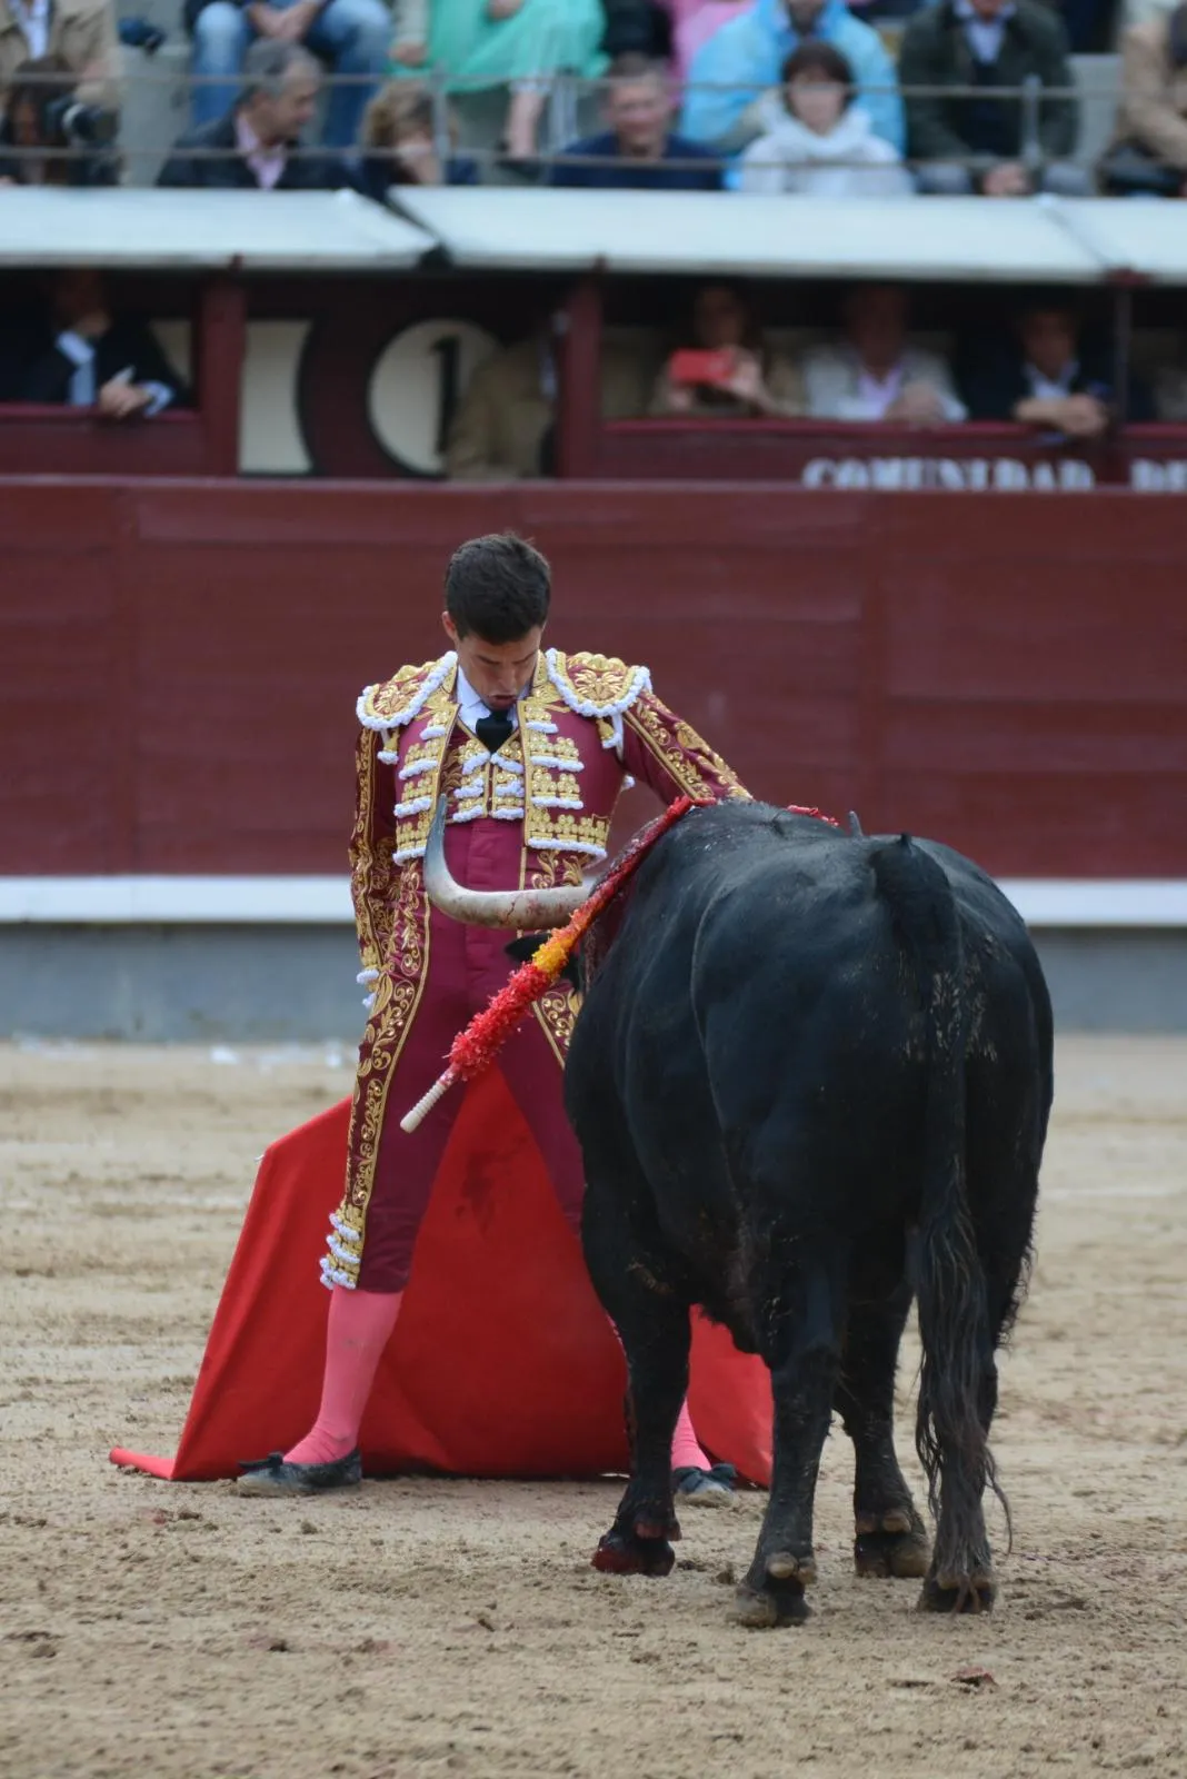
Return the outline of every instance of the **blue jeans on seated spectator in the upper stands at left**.
[[[284,9],[291,0],[270,0]],[[370,75],[334,87],[325,110],[325,146],[354,148],[368,100],[375,93],[387,62],[391,16],[382,0],[329,0],[304,39],[304,46],[327,62],[334,75]],[[210,0],[194,23],[194,73],[208,85],[194,87],[194,123],[226,117],[238,98],[238,75],[252,43],[247,14],[231,0]],[[226,84],[224,84],[226,82]]]

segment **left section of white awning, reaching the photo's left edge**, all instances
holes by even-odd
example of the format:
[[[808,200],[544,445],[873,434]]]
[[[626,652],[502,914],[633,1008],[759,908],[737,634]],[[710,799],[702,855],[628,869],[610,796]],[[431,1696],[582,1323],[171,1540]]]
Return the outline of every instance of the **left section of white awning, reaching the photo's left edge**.
[[[0,192],[0,265],[409,267],[435,246],[357,192]]]

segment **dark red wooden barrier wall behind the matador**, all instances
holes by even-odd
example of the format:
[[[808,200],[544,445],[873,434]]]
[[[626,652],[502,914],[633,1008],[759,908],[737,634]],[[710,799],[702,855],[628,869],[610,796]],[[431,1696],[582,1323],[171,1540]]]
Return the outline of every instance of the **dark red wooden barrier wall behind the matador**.
[[[1187,875],[1187,507],[1098,489],[0,484],[0,873],[334,872],[354,699],[514,525],[746,783],[1004,875]]]

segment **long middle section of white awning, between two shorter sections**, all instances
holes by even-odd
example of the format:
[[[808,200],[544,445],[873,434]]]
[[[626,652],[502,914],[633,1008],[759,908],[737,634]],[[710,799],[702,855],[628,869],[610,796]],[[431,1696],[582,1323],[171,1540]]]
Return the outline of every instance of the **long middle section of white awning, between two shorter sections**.
[[[1040,199],[405,185],[389,201],[464,267],[1064,285],[1102,276]]]

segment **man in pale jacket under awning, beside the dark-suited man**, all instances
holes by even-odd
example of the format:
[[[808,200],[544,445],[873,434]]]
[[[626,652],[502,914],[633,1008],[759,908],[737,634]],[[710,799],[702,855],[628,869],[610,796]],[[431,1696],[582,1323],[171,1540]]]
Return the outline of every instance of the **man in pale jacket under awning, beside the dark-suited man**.
[[[947,365],[908,345],[910,301],[901,285],[853,285],[844,297],[844,340],[803,354],[812,420],[894,420],[936,427],[965,420]]]

